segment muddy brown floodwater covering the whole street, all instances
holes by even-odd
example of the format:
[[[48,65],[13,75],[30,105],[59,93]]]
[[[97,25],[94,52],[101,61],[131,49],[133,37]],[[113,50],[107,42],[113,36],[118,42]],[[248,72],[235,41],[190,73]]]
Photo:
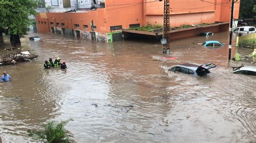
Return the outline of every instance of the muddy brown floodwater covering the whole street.
[[[38,35],[23,40],[39,58],[4,66],[12,76],[0,84],[0,135],[4,142],[26,142],[28,128],[49,120],[74,121],[66,126],[77,142],[255,142],[256,78],[232,74],[228,33],[215,33],[225,47],[193,45],[204,37],[171,42],[176,60],[159,61],[159,42],[104,43]],[[3,51],[3,47],[1,52]],[[249,54],[250,48],[233,49]],[[59,57],[68,69],[43,69],[44,60]],[[205,77],[168,73],[180,63],[213,62]],[[243,61],[254,65],[254,61]],[[133,105],[131,108],[129,105]]]

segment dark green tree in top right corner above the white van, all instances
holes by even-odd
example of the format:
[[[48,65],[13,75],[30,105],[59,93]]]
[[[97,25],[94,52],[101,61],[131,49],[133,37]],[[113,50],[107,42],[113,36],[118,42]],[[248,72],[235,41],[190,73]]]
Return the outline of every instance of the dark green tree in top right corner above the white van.
[[[240,11],[239,18],[253,18],[254,13],[253,5],[256,4],[255,0],[241,0],[240,1]]]

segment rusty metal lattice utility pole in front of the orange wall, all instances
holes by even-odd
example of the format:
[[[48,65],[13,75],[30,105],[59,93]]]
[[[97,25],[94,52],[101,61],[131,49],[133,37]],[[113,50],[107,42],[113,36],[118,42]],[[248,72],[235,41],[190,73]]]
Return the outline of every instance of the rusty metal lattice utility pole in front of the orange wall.
[[[163,54],[170,54],[170,0],[164,0]]]

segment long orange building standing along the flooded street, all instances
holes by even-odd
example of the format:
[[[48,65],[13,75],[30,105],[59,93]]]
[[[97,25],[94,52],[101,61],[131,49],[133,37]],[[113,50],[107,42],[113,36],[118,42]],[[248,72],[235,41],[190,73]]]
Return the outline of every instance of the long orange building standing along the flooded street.
[[[76,12],[39,13],[36,17],[37,29],[39,32],[52,32],[112,42],[123,38],[122,30],[125,28],[146,26],[147,24],[163,25],[163,1],[105,0],[105,7],[97,10],[82,9]],[[234,18],[238,18],[239,4],[240,1],[235,3]],[[170,10],[171,27],[223,23],[215,25],[215,27],[214,25],[206,26],[206,30],[212,28],[212,32],[217,32],[228,30],[231,0],[172,0],[170,1]],[[178,36],[175,36],[174,32],[171,37],[185,37],[180,34],[181,31],[178,32],[176,33]],[[191,35],[193,34],[195,32],[191,33]]]

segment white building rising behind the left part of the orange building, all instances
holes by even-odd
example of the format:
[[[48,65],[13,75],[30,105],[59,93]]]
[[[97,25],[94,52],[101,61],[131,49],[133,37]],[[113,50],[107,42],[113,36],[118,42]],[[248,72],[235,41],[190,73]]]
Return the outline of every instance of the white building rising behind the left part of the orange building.
[[[37,12],[65,12],[75,9],[90,9],[91,6],[105,7],[105,0],[38,0]]]

